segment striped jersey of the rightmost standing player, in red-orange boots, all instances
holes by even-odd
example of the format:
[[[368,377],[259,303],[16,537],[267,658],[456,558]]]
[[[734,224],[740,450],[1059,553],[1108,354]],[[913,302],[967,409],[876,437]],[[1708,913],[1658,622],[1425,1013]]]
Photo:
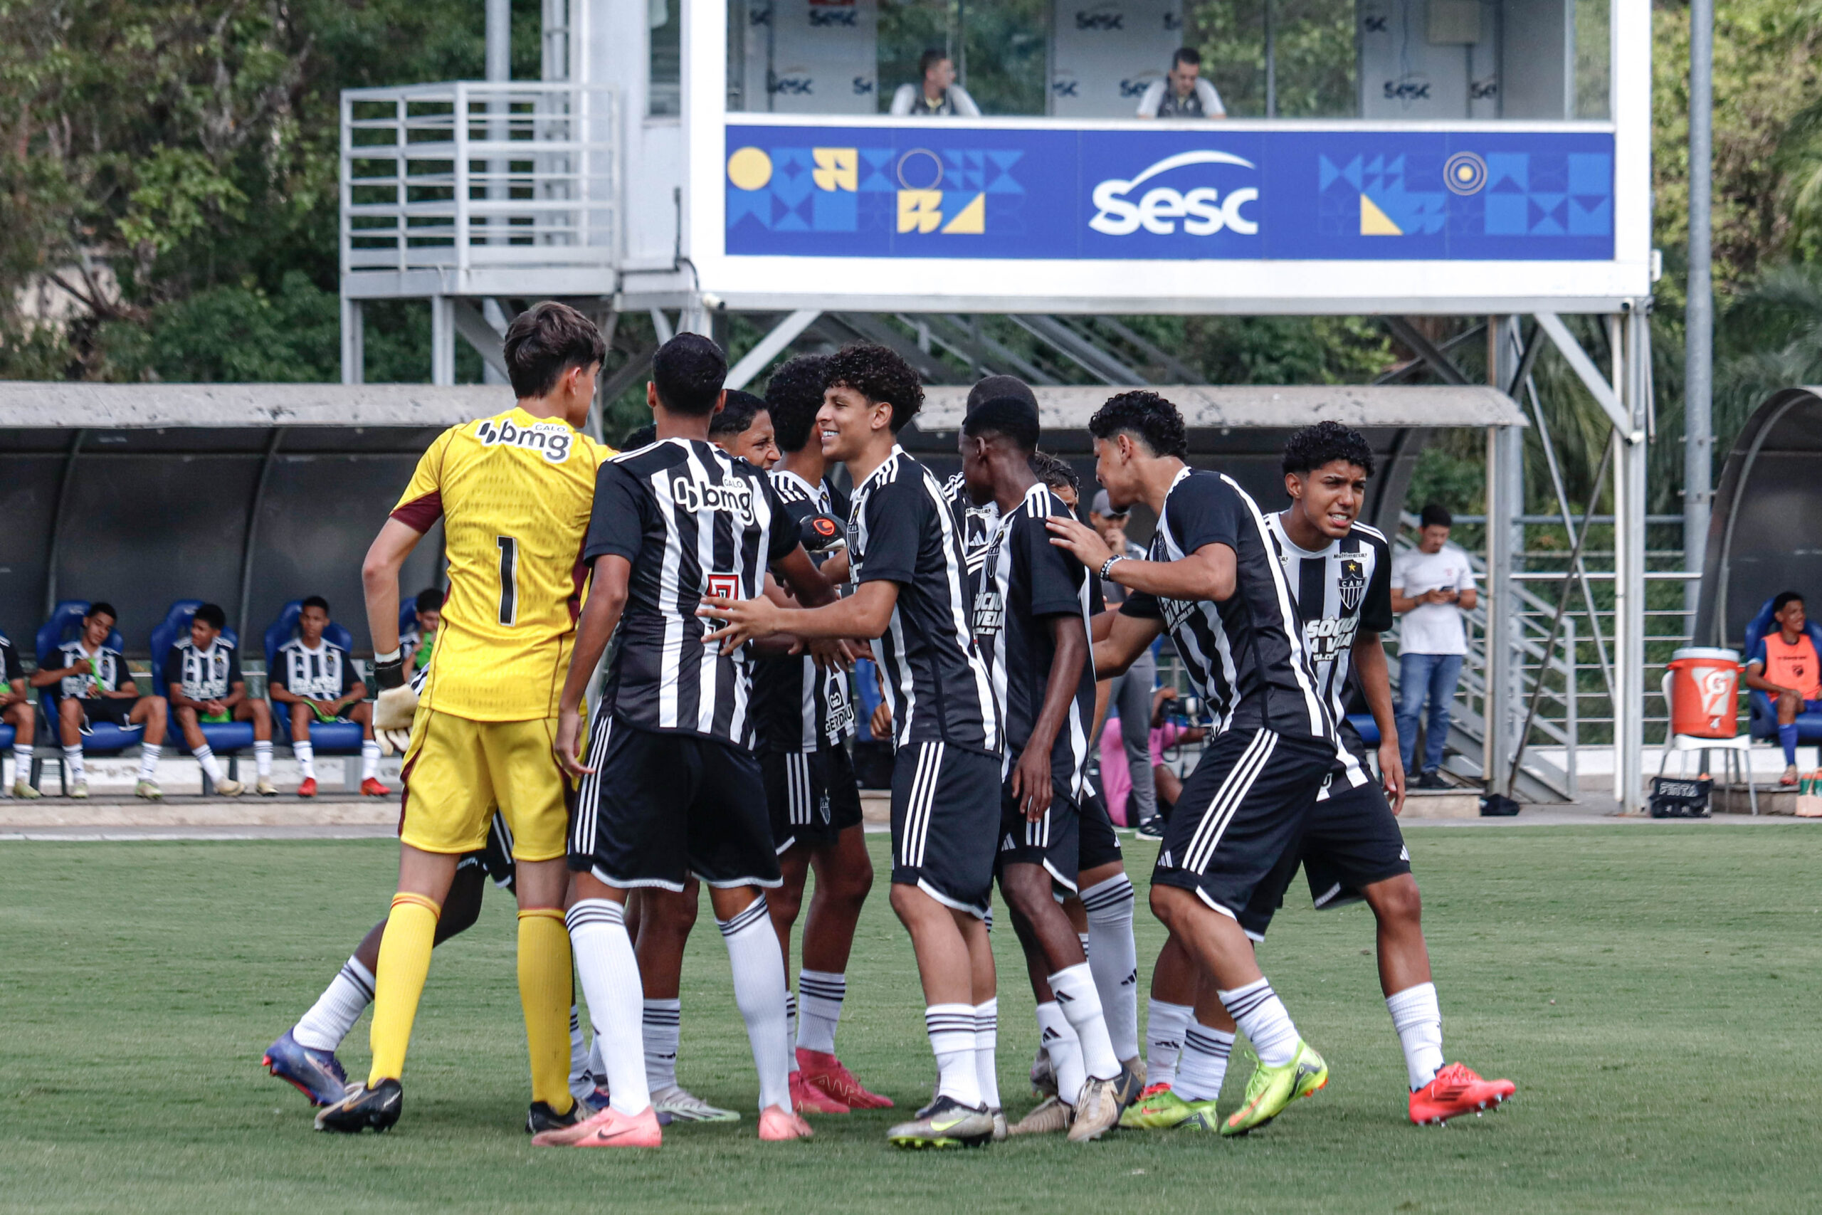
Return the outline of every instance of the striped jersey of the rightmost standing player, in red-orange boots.
[[[1392,548],[1385,536],[1356,523],[1346,536],[1310,552],[1285,530],[1285,516],[1266,516],[1277,541],[1285,579],[1303,619],[1303,645],[1315,672],[1315,690],[1328,705],[1346,754],[1346,781],[1366,783],[1357,752],[1359,734],[1348,725],[1348,676],[1354,672],[1354,636],[1392,627]]]

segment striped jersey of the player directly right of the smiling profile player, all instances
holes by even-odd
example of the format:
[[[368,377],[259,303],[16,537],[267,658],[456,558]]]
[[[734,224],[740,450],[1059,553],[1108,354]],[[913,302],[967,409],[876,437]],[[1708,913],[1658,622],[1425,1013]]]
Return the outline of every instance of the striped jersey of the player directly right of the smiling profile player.
[[[1100,610],[1099,579],[1068,550],[1049,543],[1046,516],[1073,517],[1062,499],[1039,483],[1009,514],[1000,516],[988,546],[980,550],[980,568],[969,568],[975,643],[993,676],[993,696],[1006,723],[1002,780],[1024,754],[1044,710],[1044,692],[1057,663],[1051,618],[1075,616],[1084,632],[1093,636],[1088,621]],[[1090,656],[1079,672],[1075,703],[1051,747],[1051,778],[1071,798],[1082,794],[1082,765],[1088,761],[1093,721],[1095,663]]]

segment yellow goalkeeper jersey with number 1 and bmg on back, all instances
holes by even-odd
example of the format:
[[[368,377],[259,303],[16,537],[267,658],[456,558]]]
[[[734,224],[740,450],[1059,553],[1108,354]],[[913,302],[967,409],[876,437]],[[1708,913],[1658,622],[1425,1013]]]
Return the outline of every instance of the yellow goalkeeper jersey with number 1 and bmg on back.
[[[614,450],[561,419],[505,414],[450,426],[392,517],[443,519],[450,590],[423,703],[470,721],[556,716],[576,641],[594,475]]]

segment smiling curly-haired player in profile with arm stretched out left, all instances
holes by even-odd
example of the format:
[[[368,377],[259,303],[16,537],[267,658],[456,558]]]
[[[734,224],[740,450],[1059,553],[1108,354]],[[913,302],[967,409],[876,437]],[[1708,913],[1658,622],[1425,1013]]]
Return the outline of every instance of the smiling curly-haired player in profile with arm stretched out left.
[[[816,428],[847,463],[855,592],[829,607],[714,599],[725,648],[791,634],[875,641],[893,701],[893,911],[924,980],[937,1097],[887,1133],[900,1148],[960,1148],[995,1135],[998,1004],[988,900],[1000,822],[1000,723],[967,625],[962,536],[942,485],[898,446],[924,404],[916,372],[884,346],[829,359]]]

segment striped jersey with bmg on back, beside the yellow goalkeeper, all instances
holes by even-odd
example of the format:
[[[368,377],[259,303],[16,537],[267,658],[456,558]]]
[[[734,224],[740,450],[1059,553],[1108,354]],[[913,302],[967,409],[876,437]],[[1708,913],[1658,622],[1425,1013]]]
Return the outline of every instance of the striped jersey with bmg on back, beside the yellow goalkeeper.
[[[601,465],[583,561],[632,563],[607,694],[627,725],[752,747],[752,656],[701,638],[703,596],[752,599],[798,546],[765,474],[703,439],[663,439]]]

